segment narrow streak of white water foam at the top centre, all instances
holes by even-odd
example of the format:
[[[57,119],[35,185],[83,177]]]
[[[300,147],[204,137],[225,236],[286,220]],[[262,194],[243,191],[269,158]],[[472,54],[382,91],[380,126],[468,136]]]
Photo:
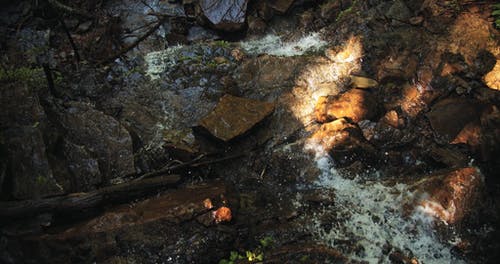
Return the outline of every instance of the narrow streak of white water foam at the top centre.
[[[296,41],[283,41],[277,35],[267,35],[261,39],[241,42],[241,47],[250,54],[269,54],[275,56],[299,56],[309,51],[318,51],[325,47],[326,41],[319,33],[311,33]]]

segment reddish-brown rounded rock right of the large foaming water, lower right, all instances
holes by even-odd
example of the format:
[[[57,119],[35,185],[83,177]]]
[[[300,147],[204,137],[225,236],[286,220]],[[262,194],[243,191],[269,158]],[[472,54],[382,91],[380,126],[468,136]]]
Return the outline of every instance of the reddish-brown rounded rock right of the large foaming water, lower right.
[[[473,167],[437,172],[413,187],[419,209],[448,224],[459,223],[477,209],[483,188],[483,176]]]

